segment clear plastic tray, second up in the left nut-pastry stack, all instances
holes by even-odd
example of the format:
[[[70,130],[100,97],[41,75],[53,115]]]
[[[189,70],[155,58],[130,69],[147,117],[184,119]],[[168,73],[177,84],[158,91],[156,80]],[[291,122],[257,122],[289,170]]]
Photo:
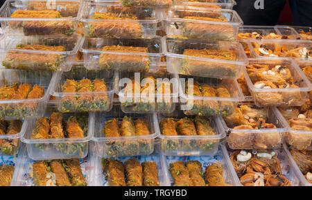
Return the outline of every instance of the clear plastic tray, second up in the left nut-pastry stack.
[[[221,123],[227,133],[227,145],[231,149],[279,149],[284,140],[286,127],[277,117],[274,108],[268,108],[267,116],[266,122],[272,123],[277,128],[233,129],[233,127],[228,127],[222,118]]]

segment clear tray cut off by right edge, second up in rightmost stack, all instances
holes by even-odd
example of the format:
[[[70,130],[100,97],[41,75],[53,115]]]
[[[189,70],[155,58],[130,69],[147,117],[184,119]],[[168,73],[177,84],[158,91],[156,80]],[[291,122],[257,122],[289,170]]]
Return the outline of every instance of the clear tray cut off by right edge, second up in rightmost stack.
[[[285,141],[289,145],[289,148],[302,151],[312,150],[312,131],[292,129],[279,109],[273,109],[277,113],[277,118],[281,124],[286,128]]]

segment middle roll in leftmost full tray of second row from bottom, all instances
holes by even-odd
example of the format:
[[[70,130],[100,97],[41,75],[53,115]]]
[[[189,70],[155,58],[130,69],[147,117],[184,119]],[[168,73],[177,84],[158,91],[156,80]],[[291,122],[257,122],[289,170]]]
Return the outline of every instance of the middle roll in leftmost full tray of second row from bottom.
[[[51,138],[64,138],[62,113],[53,112],[50,118]]]

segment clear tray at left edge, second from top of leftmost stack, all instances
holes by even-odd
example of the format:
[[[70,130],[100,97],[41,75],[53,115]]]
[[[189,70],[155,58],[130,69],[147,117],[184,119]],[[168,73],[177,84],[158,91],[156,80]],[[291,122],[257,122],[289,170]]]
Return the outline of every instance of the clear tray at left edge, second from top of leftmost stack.
[[[83,37],[71,36],[8,36],[6,46],[0,48],[0,61],[8,69],[69,71],[75,61]],[[63,46],[64,51],[20,49],[18,46]]]

